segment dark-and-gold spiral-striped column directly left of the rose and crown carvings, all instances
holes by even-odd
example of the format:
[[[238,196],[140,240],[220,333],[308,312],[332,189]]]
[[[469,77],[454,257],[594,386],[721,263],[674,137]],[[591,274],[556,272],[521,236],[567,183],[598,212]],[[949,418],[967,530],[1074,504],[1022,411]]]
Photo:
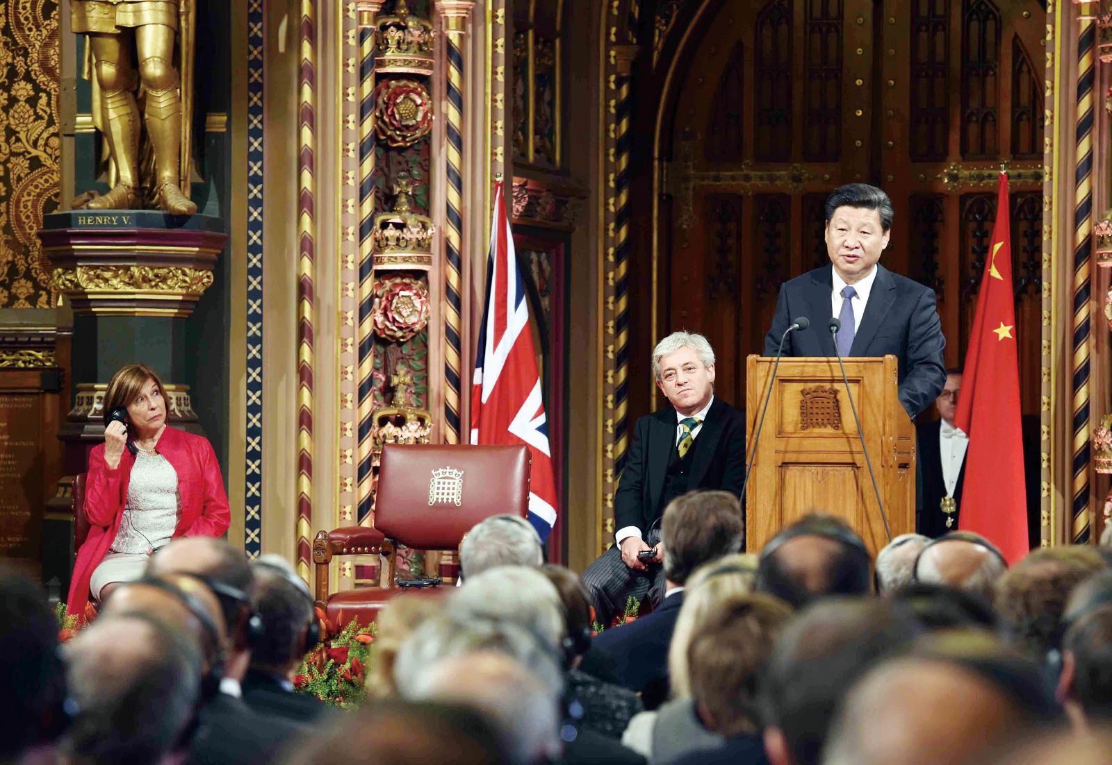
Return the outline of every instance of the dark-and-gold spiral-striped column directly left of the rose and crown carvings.
[[[375,16],[383,0],[359,0],[359,325],[356,331],[359,366],[358,446],[356,449],[356,519],[370,516],[374,459],[370,414],[375,338],[371,309],[375,304],[375,269],[370,234],[375,222]]]

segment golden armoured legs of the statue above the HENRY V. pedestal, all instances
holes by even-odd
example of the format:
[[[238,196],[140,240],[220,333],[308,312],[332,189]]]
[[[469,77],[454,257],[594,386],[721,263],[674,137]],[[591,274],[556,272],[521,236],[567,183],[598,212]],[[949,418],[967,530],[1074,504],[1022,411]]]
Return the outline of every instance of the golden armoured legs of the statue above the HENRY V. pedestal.
[[[82,207],[130,210],[148,202],[175,214],[197,212],[188,194],[195,2],[71,0],[73,31],[89,38],[86,62],[91,64],[93,123],[111,154],[112,189],[91,195]],[[139,61],[138,78],[132,49]],[[149,157],[140,154],[137,92]]]

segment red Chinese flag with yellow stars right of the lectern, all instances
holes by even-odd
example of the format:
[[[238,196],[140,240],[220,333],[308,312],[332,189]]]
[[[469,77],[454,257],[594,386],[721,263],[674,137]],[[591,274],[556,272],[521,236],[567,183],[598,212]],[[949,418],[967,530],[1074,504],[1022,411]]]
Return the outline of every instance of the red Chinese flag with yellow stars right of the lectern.
[[[1009,563],[1015,563],[1030,546],[1007,173],[1003,172],[954,424],[970,437],[959,527],[989,538]]]

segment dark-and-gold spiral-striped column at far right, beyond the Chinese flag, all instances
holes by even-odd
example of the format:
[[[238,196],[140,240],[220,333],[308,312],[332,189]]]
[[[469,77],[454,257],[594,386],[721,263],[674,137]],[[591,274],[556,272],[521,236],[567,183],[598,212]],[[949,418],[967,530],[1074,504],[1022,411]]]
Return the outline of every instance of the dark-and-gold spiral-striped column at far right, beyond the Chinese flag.
[[[1070,533],[1074,543],[1089,541],[1089,344],[1092,270],[1093,82],[1096,24],[1080,21],[1078,39],[1076,165],[1073,207],[1073,482]]]

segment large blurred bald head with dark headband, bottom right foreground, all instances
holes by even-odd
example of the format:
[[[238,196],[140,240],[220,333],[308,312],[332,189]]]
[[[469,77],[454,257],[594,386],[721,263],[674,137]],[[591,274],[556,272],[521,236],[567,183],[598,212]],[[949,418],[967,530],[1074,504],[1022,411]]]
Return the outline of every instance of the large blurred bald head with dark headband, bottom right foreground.
[[[982,762],[1056,716],[1039,666],[985,633],[949,633],[882,662],[846,695],[827,765]]]

